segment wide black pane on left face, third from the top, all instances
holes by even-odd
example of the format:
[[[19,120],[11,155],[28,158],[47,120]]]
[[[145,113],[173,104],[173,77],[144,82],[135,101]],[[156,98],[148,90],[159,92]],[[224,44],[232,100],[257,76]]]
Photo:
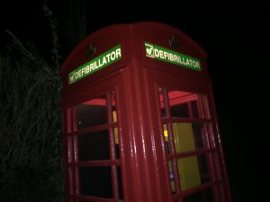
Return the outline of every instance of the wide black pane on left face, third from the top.
[[[112,198],[112,175],[110,167],[80,167],[79,178],[80,194]]]

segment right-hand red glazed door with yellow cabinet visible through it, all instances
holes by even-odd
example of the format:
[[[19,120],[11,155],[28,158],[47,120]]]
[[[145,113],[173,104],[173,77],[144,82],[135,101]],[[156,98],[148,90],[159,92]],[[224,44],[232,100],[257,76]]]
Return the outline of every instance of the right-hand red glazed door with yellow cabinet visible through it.
[[[229,201],[224,190],[211,86],[148,70],[148,98],[158,122],[173,201]],[[181,82],[179,82],[179,80]],[[154,110],[155,108],[155,110]]]

